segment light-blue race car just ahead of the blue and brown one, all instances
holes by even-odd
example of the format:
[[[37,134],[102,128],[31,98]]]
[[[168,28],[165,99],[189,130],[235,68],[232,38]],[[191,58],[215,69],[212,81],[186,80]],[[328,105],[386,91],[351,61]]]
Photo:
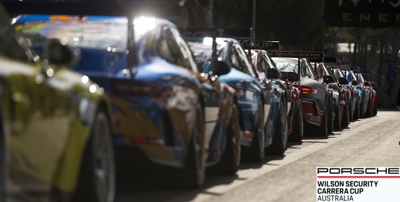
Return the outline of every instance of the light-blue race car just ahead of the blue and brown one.
[[[258,77],[246,52],[234,38],[216,38],[215,42],[216,57],[229,64],[230,69],[218,80],[234,87],[238,96],[244,153],[255,161],[265,157],[266,152],[284,154],[288,141],[284,90]],[[189,45],[202,71],[214,71],[213,39],[193,40]],[[279,72],[276,71],[275,75]]]

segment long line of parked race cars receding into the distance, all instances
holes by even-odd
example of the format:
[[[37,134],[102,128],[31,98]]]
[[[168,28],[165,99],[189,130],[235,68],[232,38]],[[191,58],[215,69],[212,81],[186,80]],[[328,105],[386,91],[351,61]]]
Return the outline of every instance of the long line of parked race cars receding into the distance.
[[[323,52],[184,38],[121,14],[134,3],[3,3],[24,15],[0,10],[0,201],[113,201],[115,165],[141,157],[201,187],[377,113],[375,86]]]

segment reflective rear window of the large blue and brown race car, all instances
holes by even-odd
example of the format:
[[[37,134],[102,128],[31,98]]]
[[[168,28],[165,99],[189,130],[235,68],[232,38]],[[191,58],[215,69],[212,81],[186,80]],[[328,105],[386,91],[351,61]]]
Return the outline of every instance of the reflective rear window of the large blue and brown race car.
[[[79,55],[76,71],[121,73],[128,55],[128,18],[74,15],[20,15],[13,27],[39,55],[49,39],[58,39]],[[135,55],[138,64],[156,56],[156,18],[135,17],[133,20]],[[122,75],[121,75],[122,76]]]

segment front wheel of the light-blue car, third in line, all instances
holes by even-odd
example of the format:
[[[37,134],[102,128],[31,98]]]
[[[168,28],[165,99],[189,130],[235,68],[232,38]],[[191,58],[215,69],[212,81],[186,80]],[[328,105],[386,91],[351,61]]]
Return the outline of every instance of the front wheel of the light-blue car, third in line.
[[[274,137],[272,138],[272,144],[265,149],[267,154],[281,155],[286,151],[286,145],[288,143],[288,121],[286,117],[286,108],[284,102],[281,101],[279,107],[279,113],[276,117]]]

